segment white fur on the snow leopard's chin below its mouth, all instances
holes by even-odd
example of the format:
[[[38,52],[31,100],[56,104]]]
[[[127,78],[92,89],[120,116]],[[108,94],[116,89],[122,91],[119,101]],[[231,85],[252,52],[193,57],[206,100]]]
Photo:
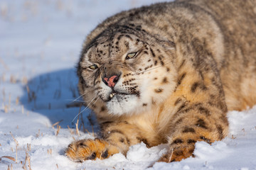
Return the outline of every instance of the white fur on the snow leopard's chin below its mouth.
[[[120,97],[115,95],[111,101],[107,102],[107,109],[113,115],[124,115],[135,112],[139,103],[139,98],[135,95]]]

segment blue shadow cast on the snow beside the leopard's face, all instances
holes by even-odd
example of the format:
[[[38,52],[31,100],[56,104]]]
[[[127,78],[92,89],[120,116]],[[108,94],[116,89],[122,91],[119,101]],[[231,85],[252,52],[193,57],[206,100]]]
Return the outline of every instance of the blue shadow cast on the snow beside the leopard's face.
[[[55,72],[39,74],[30,79],[23,87],[21,103],[27,111],[45,115],[50,123],[57,123],[61,128],[75,128],[78,120],[82,99],[78,98],[78,77],[75,68],[61,69]],[[78,101],[74,101],[78,98]],[[85,106],[81,107],[81,111]],[[80,123],[85,129],[92,131],[91,123],[95,125],[95,118],[90,109],[80,114]],[[82,115],[82,119],[81,119]],[[82,130],[83,128],[81,128]]]

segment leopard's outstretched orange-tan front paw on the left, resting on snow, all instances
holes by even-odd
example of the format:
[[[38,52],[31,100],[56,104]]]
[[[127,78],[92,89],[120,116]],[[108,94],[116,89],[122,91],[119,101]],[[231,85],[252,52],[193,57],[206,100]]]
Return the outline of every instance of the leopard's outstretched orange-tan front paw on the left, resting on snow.
[[[78,140],[65,150],[65,155],[75,162],[84,162],[85,160],[105,159],[110,157],[111,145],[105,140]]]

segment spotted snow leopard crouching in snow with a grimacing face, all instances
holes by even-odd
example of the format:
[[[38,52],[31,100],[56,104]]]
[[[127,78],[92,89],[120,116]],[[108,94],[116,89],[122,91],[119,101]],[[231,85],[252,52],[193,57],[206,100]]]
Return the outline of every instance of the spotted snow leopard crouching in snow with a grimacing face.
[[[256,1],[181,0],[117,13],[82,45],[78,89],[100,132],[68,145],[75,162],[166,144],[195,157],[228,135],[228,111],[256,103]]]

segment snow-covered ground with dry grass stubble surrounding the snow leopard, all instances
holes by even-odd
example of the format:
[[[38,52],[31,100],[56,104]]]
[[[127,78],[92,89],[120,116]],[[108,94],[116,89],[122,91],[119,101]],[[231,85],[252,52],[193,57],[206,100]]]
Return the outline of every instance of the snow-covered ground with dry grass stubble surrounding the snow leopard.
[[[146,169],[161,157],[164,145],[147,149],[143,143],[132,146],[127,157],[103,161],[80,164],[64,156],[70,142],[93,138],[97,131],[90,111],[78,122],[80,108],[67,107],[79,96],[74,67],[85,35],[107,16],[152,2],[0,0],[1,170]],[[256,107],[228,117],[225,140],[211,146],[197,142],[195,158],[149,169],[256,170]]]

